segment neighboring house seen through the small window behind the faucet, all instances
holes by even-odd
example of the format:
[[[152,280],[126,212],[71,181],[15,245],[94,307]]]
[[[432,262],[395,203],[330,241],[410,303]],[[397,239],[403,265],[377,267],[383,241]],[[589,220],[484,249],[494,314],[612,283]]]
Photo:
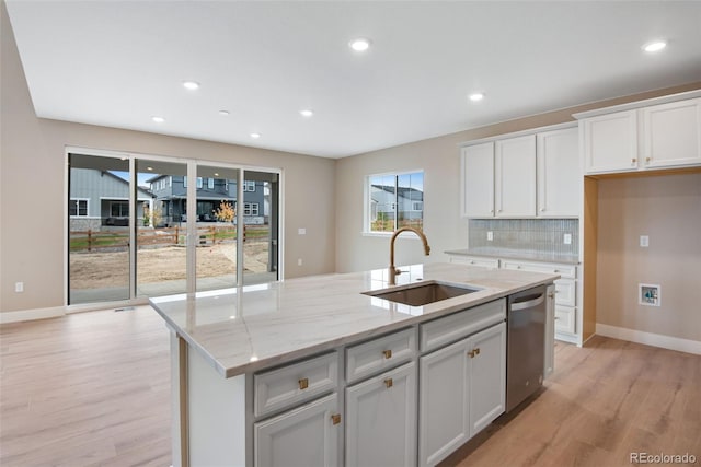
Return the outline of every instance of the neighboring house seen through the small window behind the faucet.
[[[399,212],[400,220],[422,219],[424,192],[415,188],[398,187],[395,197],[393,185],[371,185],[370,209],[374,221],[378,218],[394,219],[394,212]]]

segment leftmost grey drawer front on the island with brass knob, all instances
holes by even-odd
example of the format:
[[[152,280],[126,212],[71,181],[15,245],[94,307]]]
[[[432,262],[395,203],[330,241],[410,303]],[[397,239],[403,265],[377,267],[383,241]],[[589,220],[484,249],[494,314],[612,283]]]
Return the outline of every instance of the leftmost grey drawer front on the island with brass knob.
[[[253,376],[255,416],[309,400],[338,384],[338,354],[326,353]]]

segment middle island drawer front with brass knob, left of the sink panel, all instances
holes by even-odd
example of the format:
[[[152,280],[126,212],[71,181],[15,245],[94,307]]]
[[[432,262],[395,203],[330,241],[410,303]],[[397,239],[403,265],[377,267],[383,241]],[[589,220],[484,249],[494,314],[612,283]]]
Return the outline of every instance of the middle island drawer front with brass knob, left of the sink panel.
[[[346,349],[346,380],[354,383],[409,362],[416,354],[416,329],[409,328]]]

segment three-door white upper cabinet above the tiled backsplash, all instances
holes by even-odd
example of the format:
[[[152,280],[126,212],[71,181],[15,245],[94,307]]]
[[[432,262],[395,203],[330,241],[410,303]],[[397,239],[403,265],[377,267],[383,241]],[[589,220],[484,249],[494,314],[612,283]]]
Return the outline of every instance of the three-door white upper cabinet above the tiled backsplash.
[[[578,132],[562,128],[462,148],[462,215],[579,215]]]

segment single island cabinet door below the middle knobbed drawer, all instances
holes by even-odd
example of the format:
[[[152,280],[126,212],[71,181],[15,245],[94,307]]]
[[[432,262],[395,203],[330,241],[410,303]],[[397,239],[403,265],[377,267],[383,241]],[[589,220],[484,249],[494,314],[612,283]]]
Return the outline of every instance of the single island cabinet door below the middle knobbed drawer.
[[[346,389],[346,466],[416,465],[416,364]]]

